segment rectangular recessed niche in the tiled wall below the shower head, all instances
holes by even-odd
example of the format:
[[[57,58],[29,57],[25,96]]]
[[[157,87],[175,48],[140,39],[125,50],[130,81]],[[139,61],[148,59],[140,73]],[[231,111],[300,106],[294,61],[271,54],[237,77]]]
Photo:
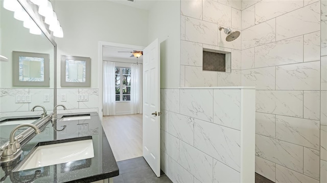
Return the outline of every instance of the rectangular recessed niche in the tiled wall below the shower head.
[[[202,70],[230,72],[230,58],[230,52],[203,48]]]

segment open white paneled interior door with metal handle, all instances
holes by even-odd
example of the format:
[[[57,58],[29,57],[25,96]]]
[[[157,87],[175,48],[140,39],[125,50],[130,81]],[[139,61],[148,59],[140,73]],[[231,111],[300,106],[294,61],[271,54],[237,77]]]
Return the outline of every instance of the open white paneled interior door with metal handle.
[[[160,176],[160,46],[143,50],[143,156]]]

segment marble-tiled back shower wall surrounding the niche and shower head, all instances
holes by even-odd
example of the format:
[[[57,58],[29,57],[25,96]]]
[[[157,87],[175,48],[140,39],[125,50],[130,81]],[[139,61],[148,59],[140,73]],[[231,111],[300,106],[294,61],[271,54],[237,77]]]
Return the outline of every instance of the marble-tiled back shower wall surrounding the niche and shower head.
[[[219,26],[242,28],[241,0],[181,0],[180,87],[241,85],[241,37],[232,42]],[[203,71],[202,50],[231,52],[226,72]]]

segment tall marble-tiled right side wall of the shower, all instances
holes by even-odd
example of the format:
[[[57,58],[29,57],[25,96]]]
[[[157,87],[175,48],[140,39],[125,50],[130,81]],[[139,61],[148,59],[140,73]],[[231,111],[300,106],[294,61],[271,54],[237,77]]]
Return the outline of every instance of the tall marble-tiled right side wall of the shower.
[[[243,0],[241,10],[241,86],[256,87],[255,171],[275,182],[319,182],[327,125],[320,1]]]

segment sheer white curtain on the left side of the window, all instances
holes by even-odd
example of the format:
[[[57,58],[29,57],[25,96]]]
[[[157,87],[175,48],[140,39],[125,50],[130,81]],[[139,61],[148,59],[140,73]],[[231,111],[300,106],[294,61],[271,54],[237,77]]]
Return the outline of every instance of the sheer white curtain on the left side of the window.
[[[103,62],[103,116],[115,115],[115,65]]]

